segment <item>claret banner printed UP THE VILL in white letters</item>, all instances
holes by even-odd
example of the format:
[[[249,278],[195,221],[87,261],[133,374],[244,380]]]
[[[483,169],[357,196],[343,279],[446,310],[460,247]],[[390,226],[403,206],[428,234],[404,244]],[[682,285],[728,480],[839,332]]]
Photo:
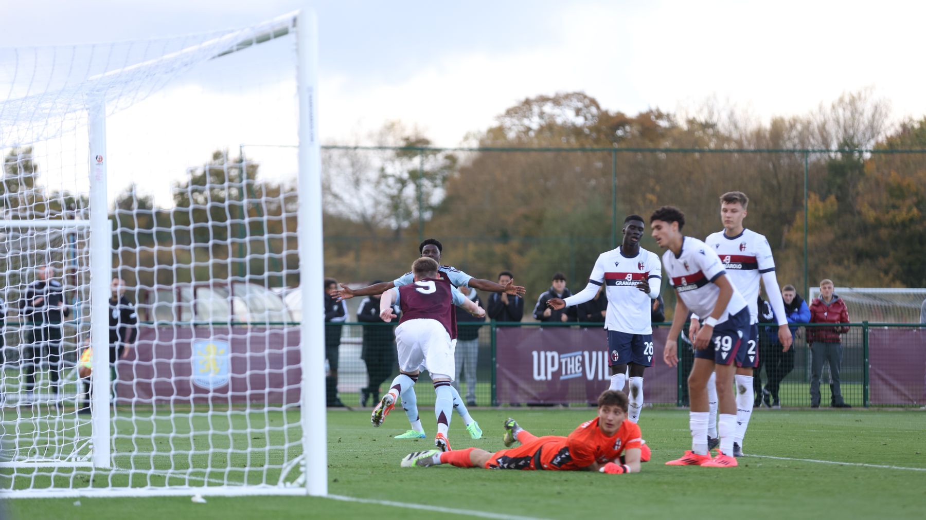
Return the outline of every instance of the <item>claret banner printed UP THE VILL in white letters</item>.
[[[498,327],[496,331],[496,392],[501,404],[592,403],[610,385],[604,328]],[[644,373],[644,402],[677,402],[677,369],[662,361],[668,332],[669,328],[653,329],[653,366]],[[623,390],[628,391],[626,386]]]

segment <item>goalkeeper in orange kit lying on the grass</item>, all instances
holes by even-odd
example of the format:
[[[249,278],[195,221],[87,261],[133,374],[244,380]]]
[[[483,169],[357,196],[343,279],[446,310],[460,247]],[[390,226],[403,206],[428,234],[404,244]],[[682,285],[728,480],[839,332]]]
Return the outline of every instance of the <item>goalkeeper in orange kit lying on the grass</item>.
[[[643,446],[640,427],[627,420],[627,395],[619,390],[602,392],[598,397],[598,416],[579,425],[569,437],[536,437],[519,427],[514,419],[505,422],[505,429],[505,445],[513,446],[520,442],[519,447],[494,453],[479,448],[456,452],[414,452],[402,459],[402,466],[451,464],[485,469],[599,471],[609,474],[640,471]],[[648,456],[645,458],[648,460]]]

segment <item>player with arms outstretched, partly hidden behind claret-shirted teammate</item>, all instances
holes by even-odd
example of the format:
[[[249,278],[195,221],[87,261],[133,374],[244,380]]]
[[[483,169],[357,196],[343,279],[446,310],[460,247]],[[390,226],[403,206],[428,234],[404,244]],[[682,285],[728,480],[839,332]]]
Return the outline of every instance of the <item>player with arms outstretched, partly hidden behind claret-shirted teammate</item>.
[[[426,256],[432,258],[438,265],[441,264],[441,254],[444,252],[444,245],[436,239],[427,239],[422,241],[418,246],[419,254],[421,256]],[[457,287],[466,285],[473,289],[479,289],[482,291],[489,292],[507,292],[508,294],[517,294],[519,296],[524,296],[524,288],[514,285],[514,280],[509,280],[506,285],[499,285],[493,281],[485,279],[475,279],[470,277],[468,274],[463,271],[452,267],[452,266],[441,266],[440,272],[450,280],[453,288],[454,295],[454,304],[457,306],[464,306],[469,299],[466,296],[463,296],[460,291],[457,291]],[[382,294],[384,291],[389,291],[394,287],[402,287],[414,281],[413,273],[408,272],[405,275],[395,279],[394,281],[385,281],[382,283],[377,283],[370,285],[369,287],[364,287],[362,289],[352,290],[348,287],[341,286],[341,289],[337,291],[337,297],[339,300],[346,300],[348,298],[353,298],[354,296],[371,296],[374,294]],[[471,302],[470,302],[471,303]],[[484,316],[484,311],[480,309],[482,316]],[[472,313],[470,313],[472,314]],[[450,319],[452,329],[450,332],[450,339],[452,345],[456,346],[457,343],[457,314],[450,310]],[[479,314],[477,313],[477,316]],[[479,317],[482,317],[479,316]],[[408,417],[408,423],[410,429],[405,433],[395,436],[395,439],[424,439],[426,434],[424,433],[424,428],[421,426],[421,421],[419,419],[418,412],[418,397],[415,394],[414,384],[418,381],[418,376],[411,378],[411,384],[403,386],[404,389],[402,393],[402,408],[405,410]],[[463,403],[463,399],[460,398],[459,392],[457,389],[454,391],[454,410],[457,411],[457,414],[462,417],[463,422],[466,424],[467,431],[469,436],[472,439],[480,439],[482,437],[482,429],[480,429],[479,424],[472,419],[469,415],[469,410],[466,405]]]

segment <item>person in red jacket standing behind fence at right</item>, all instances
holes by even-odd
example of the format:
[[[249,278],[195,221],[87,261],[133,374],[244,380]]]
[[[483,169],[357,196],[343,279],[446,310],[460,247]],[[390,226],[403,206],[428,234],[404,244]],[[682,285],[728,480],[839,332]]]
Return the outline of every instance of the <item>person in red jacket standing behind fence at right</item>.
[[[845,302],[832,293],[832,280],[820,281],[820,298],[810,303],[810,323],[848,323],[849,311]],[[849,331],[848,327],[808,327],[807,342],[810,343],[810,407],[820,407],[820,376],[823,362],[830,364],[830,390],[833,408],[852,408],[843,401],[839,388],[839,368],[843,364],[843,342],[839,337]]]

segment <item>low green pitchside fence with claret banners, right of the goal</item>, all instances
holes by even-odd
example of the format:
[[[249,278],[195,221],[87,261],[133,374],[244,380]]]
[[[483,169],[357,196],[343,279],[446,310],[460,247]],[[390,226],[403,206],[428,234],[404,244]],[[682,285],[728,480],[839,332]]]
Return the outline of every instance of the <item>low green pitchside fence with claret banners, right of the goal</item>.
[[[670,324],[654,324],[657,327],[669,327]],[[840,335],[842,346],[842,363],[840,366],[840,384],[845,402],[854,407],[866,406],[923,406],[926,404],[926,325],[923,324],[844,324],[847,331]],[[385,324],[345,323],[340,349],[339,392],[346,404],[359,404],[360,389],[368,385],[369,366],[361,359],[363,351],[364,327],[391,327]],[[460,323],[459,328],[474,327]],[[566,323],[540,324],[536,322],[502,323],[487,322],[475,325],[478,332],[478,365],[475,389],[470,391],[465,370],[460,375],[460,395],[474,395],[479,406],[507,405],[499,402],[496,396],[496,353],[506,345],[497,341],[497,330],[501,327],[556,327],[556,328],[601,328],[600,323]],[[763,405],[780,405],[782,407],[807,407],[811,405],[810,388],[813,379],[812,345],[807,342],[808,328],[832,328],[832,325],[807,324],[797,329],[794,345],[790,353],[782,353],[777,343],[777,327],[773,324],[759,326],[759,356],[764,358],[757,371],[756,397],[761,400],[762,390],[769,388],[770,378],[781,378],[780,386],[770,395]],[[683,336],[683,335],[682,335]],[[679,339],[680,364],[675,378],[674,399],[671,402],[656,402],[656,405],[687,406],[686,378],[691,371],[693,353],[690,343],[683,337]],[[595,346],[594,348],[598,348]],[[654,359],[654,366],[664,370],[661,358]],[[773,365],[774,364],[774,365]],[[781,365],[786,368],[782,374]],[[790,365],[790,366],[789,366]],[[398,374],[393,365],[388,380],[380,391],[388,390],[388,383]],[[820,371],[820,406],[831,405],[832,367],[823,364]],[[424,385],[420,383],[424,382]],[[428,406],[433,403],[433,392],[427,378],[419,380],[419,404]],[[602,388],[605,390],[607,384]],[[649,392],[648,392],[649,393]],[[570,393],[569,402],[586,405],[587,400],[581,393]],[[370,402],[368,402],[368,405]]]

